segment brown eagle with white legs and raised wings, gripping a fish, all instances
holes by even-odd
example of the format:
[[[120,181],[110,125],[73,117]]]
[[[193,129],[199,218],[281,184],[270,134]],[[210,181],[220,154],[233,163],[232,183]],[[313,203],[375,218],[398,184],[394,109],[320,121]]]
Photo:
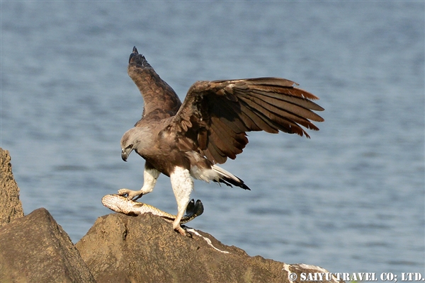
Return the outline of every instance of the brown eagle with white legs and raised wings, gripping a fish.
[[[223,183],[250,190],[243,180],[217,166],[234,159],[248,144],[246,132],[279,131],[310,138],[305,129],[319,130],[312,121],[324,119],[312,93],[297,83],[273,77],[196,81],[181,103],[176,92],[163,81],[133,47],[128,75],[145,105],[142,118],[121,138],[121,158],[132,151],[145,159],[144,183],[140,190],[118,190],[128,200],[152,192],[160,173],[169,176],[176,197],[173,229],[186,231],[180,220],[193,190],[193,180]]]

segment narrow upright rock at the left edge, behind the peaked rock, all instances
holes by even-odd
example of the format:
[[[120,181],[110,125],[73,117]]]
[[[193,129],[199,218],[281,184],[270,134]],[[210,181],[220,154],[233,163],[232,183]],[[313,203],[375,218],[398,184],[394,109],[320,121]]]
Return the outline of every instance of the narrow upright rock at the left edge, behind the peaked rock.
[[[0,147],[0,226],[22,216],[19,187],[13,179],[11,156]]]

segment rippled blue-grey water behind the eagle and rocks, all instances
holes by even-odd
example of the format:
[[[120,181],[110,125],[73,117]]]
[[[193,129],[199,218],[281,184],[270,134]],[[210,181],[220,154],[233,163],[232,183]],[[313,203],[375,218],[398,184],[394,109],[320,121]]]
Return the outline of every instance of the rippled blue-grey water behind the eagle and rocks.
[[[197,80],[280,76],[321,98],[312,139],[249,134],[225,164],[251,192],[196,182],[191,226],[331,272],[423,272],[424,2],[1,2],[1,147],[26,214],[74,242],[101,197],[142,185],[120,158],[142,98],[133,45],[183,99]],[[176,211],[162,176],[144,202]]]

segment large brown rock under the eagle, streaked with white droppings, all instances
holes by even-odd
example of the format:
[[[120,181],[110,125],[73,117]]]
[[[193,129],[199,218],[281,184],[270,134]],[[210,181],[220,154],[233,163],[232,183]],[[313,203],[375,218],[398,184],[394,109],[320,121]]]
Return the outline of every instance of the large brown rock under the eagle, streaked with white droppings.
[[[181,236],[152,214],[108,214],[76,246],[98,283],[289,282],[290,272],[300,278],[300,272],[314,270],[312,265],[250,257],[208,233],[191,233],[193,238]],[[315,272],[323,272],[319,268]]]

